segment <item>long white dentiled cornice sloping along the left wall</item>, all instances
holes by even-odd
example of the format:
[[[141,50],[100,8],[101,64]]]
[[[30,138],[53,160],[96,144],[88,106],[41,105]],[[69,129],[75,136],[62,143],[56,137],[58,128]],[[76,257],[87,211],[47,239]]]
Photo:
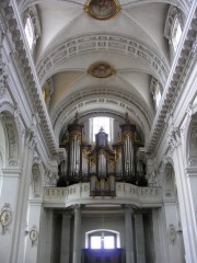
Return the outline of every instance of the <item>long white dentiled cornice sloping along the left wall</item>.
[[[45,138],[50,155],[56,155],[57,144],[54,137],[54,132],[48,114],[46,112],[46,106],[42,98],[36,71],[33,66],[30,52],[27,52],[24,43],[24,35],[21,30],[22,25],[19,19],[15,2],[2,0],[0,2],[0,8],[2,10],[2,18],[7,24],[8,34],[10,35],[10,41],[14,44],[14,59],[16,59],[20,65],[19,70],[23,76],[25,76],[24,80],[27,95],[31,98],[34,113],[37,113],[40,119],[39,125],[42,128],[43,137]]]

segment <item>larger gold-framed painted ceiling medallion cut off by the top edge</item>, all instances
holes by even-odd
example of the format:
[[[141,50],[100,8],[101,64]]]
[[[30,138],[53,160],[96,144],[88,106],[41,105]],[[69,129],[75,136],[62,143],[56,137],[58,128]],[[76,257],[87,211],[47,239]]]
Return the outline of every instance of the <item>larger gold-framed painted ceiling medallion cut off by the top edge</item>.
[[[84,10],[94,19],[107,20],[120,11],[120,5],[116,0],[89,0]]]

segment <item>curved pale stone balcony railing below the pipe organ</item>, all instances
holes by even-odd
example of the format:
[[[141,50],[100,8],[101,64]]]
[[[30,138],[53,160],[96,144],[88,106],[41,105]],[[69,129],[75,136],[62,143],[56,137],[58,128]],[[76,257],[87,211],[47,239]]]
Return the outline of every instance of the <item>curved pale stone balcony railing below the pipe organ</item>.
[[[90,196],[90,183],[44,190],[45,207],[69,207],[76,204],[132,204],[137,207],[160,207],[161,187],[140,187],[116,183],[116,196]]]

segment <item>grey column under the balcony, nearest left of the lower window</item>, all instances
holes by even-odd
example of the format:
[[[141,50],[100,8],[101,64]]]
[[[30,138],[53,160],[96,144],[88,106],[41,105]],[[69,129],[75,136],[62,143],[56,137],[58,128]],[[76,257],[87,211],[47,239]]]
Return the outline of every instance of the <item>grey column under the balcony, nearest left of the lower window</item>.
[[[81,209],[80,209],[80,205],[76,205],[72,263],[80,263],[80,262],[81,262]]]

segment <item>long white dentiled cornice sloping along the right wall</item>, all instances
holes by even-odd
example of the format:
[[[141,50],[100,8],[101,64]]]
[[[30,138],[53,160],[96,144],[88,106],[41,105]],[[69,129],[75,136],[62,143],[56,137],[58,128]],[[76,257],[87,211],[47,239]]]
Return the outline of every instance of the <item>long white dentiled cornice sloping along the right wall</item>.
[[[188,18],[189,20],[186,22],[186,26],[183,32],[185,38],[182,39],[179,49],[177,50],[177,56],[174,59],[172,70],[164,88],[164,94],[162,96],[160,108],[158,110],[152,126],[148,153],[155,150],[157,142],[162,134],[162,128],[165,125],[165,119],[167,118],[167,115],[173,112],[189,78],[189,73],[196,66],[197,2],[194,2]]]

